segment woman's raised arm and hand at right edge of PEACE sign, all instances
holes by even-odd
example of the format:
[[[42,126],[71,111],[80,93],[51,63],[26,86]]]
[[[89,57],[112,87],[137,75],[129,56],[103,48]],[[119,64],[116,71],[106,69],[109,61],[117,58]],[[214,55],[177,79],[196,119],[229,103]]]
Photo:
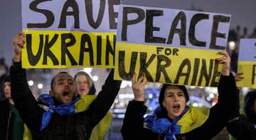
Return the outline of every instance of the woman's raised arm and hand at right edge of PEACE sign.
[[[210,115],[206,122],[197,129],[185,134],[186,138],[211,139],[218,134],[228,123],[232,113],[235,110],[236,85],[235,78],[230,74],[230,57],[227,52],[220,52],[223,57],[216,59],[223,64],[222,75],[218,85],[218,103],[210,109]]]

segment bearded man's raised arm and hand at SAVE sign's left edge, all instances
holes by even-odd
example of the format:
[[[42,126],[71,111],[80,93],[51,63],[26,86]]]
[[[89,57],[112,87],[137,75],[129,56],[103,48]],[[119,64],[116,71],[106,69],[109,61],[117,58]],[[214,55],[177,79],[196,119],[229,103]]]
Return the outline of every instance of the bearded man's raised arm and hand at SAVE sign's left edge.
[[[33,132],[39,131],[42,122],[43,110],[38,106],[36,100],[28,88],[26,69],[21,68],[21,48],[23,48],[25,34],[19,32],[14,37],[14,64],[11,66],[11,97],[14,105],[21,115],[21,119]]]

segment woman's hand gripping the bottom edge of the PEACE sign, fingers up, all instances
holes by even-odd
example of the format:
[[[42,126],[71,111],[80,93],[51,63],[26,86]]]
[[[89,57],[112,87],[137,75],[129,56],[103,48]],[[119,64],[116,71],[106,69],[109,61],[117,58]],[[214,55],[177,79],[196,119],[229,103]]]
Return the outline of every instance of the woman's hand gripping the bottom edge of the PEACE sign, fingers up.
[[[139,77],[137,80],[137,74],[134,73],[132,76],[132,91],[134,92],[134,100],[144,101],[144,88],[147,81],[144,81],[145,74]]]

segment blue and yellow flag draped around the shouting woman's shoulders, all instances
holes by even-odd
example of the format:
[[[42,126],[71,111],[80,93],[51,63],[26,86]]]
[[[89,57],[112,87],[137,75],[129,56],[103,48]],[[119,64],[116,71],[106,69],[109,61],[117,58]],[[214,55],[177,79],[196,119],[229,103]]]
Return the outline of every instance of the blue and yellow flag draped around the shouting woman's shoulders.
[[[158,118],[160,113],[162,113],[161,108],[157,107],[153,115],[146,116],[144,127],[156,134],[164,134],[164,139],[173,140],[174,135],[190,132],[206,122],[210,108],[186,106],[181,115],[171,122],[166,117]]]

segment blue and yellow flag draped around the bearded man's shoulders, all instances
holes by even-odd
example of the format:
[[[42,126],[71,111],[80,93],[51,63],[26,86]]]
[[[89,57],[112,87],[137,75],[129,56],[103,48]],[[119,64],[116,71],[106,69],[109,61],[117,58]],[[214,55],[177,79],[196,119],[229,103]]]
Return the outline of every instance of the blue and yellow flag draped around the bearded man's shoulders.
[[[53,105],[53,98],[48,94],[41,95],[38,100],[41,100],[43,103],[46,104],[48,107],[48,110],[43,113],[43,119],[42,119],[42,125],[41,130],[43,130],[48,122],[50,122],[51,116],[53,112],[57,112],[59,115],[65,116],[65,115],[73,115],[78,112],[82,112],[88,109],[90,104],[93,100],[95,100],[97,96],[96,95],[82,95],[80,98],[75,98],[73,102],[59,105],[58,107],[55,107]],[[90,136],[90,139],[93,140],[100,140],[104,139],[104,136],[107,132],[107,129],[110,127],[110,123],[112,121],[113,115],[110,112],[107,112],[107,115],[95,126],[94,129],[92,129],[92,134]],[[28,127],[26,125],[24,126],[24,135],[23,139],[31,140],[31,132],[29,131]]]

